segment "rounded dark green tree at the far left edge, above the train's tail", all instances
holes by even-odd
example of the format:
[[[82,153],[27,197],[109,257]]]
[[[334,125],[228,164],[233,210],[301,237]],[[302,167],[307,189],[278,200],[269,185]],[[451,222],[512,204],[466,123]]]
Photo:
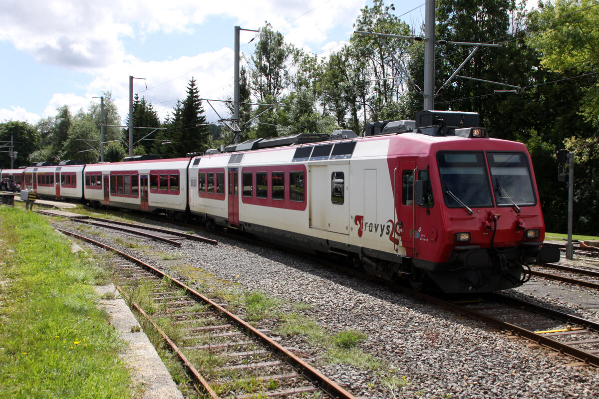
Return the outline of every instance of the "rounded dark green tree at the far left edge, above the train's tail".
[[[10,151],[11,136],[13,139],[13,151],[17,152],[17,159],[13,161],[13,167],[28,165],[31,153],[40,149],[41,136],[35,127],[27,122],[8,121],[0,123],[0,141],[8,142],[2,151]],[[0,153],[0,169],[10,168],[10,154]]]

